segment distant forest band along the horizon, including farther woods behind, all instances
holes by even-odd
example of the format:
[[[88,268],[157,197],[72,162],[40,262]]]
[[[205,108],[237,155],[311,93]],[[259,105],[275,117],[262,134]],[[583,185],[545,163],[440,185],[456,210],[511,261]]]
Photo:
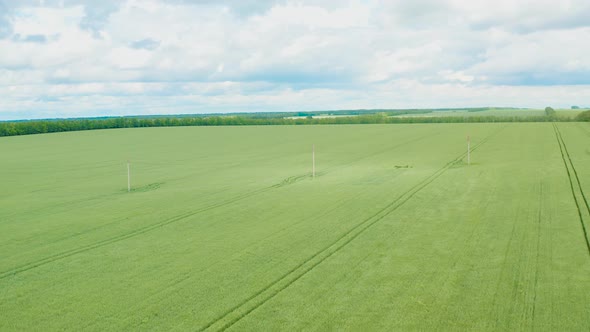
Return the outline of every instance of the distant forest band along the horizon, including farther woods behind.
[[[452,109],[479,112],[491,108]],[[0,122],[0,136],[44,134],[114,128],[177,126],[264,126],[264,125],[331,125],[331,124],[396,124],[396,123],[478,123],[478,122],[549,122],[590,121],[590,111],[576,118],[538,116],[422,116],[399,115],[435,113],[431,110],[348,110],[291,113],[234,113],[224,115],[130,116],[79,119],[48,119]],[[319,118],[318,118],[319,116]],[[322,117],[325,116],[325,117]]]

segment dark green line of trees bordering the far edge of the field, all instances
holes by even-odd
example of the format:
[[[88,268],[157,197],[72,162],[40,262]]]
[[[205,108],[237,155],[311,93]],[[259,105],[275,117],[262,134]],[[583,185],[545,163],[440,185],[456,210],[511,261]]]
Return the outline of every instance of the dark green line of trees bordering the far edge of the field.
[[[44,134],[65,131],[176,127],[176,126],[262,126],[262,125],[330,125],[330,124],[394,124],[394,123],[479,123],[479,122],[548,122],[572,121],[554,116],[445,116],[395,117],[386,114],[367,114],[333,118],[276,118],[253,116],[208,117],[120,117],[105,119],[68,119],[0,122],[0,136]],[[576,118],[574,121],[584,121]],[[587,121],[587,120],[586,120]]]

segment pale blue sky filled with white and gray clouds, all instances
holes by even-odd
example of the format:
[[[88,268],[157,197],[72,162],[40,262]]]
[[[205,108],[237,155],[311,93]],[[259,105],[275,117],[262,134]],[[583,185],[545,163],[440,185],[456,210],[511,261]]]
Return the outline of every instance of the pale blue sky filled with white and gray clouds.
[[[0,0],[0,120],[590,106],[588,0]]]

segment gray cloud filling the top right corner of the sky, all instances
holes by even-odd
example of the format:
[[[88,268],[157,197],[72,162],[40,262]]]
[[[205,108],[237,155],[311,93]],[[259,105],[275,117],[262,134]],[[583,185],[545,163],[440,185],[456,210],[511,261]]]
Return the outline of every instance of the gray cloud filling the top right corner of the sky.
[[[590,26],[590,2],[553,0],[388,0],[381,23],[404,28],[504,29],[519,34]]]

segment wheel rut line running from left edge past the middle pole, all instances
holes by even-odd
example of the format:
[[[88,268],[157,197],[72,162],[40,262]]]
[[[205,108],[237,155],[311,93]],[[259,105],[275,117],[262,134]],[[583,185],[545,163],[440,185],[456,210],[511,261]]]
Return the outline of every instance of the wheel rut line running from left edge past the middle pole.
[[[427,137],[430,137],[430,136],[433,136],[433,135],[436,135],[436,134],[437,133],[435,133],[435,134],[429,134],[429,135],[424,135],[424,136],[420,136],[418,138],[414,138],[414,139],[411,139],[411,140],[404,141],[404,142],[399,143],[399,144],[396,144],[396,145],[394,145],[392,147],[388,147],[387,149],[384,149],[382,151],[379,151],[379,152],[376,152],[376,153],[373,153],[373,154],[370,154],[370,155],[367,155],[367,156],[364,156],[364,157],[355,159],[355,160],[353,160],[351,162],[348,162],[348,163],[346,163],[344,165],[329,167],[323,173],[327,173],[329,170],[335,170],[335,169],[340,169],[340,168],[348,167],[348,166],[350,166],[350,165],[352,165],[352,164],[354,164],[356,162],[359,162],[361,160],[364,160],[366,158],[371,158],[371,157],[373,157],[375,155],[378,155],[378,154],[381,154],[381,153],[385,153],[385,152],[390,151],[390,150],[397,149],[400,146],[404,146],[406,144],[411,144],[411,143],[420,141],[422,139],[425,139]],[[271,185],[271,186],[268,186],[268,187],[264,187],[264,188],[261,188],[261,189],[257,189],[257,190],[251,191],[249,193],[238,195],[238,196],[236,196],[236,197],[234,197],[232,199],[226,200],[226,201],[221,202],[221,203],[212,204],[210,206],[206,206],[206,207],[203,207],[201,209],[197,209],[195,211],[186,212],[184,214],[180,214],[180,215],[177,215],[175,217],[168,218],[165,221],[154,223],[154,224],[151,224],[151,225],[148,225],[148,226],[145,226],[145,227],[142,227],[142,228],[133,230],[133,231],[128,232],[128,233],[125,233],[125,234],[121,234],[121,235],[118,235],[118,236],[115,236],[115,237],[104,239],[104,240],[101,240],[101,241],[98,241],[98,242],[95,242],[93,244],[89,244],[89,245],[86,245],[86,246],[82,246],[82,247],[78,247],[78,248],[66,250],[64,252],[60,252],[60,253],[57,253],[57,254],[54,254],[54,255],[51,255],[51,256],[44,257],[42,259],[39,259],[39,260],[36,260],[36,261],[33,261],[33,262],[29,262],[29,263],[20,265],[18,267],[12,268],[10,270],[6,270],[6,271],[3,271],[3,272],[0,272],[0,280],[6,279],[8,277],[14,276],[14,275],[19,274],[19,273],[22,273],[22,272],[26,272],[26,271],[35,269],[37,267],[40,267],[40,266],[43,266],[43,265],[46,265],[46,264],[49,264],[49,263],[52,263],[52,262],[55,262],[57,260],[61,260],[61,259],[67,258],[67,257],[71,257],[73,255],[76,255],[76,254],[79,254],[79,253],[83,253],[83,252],[87,252],[89,250],[101,248],[101,247],[104,247],[104,246],[109,245],[109,244],[117,243],[117,242],[120,242],[120,241],[129,239],[129,238],[132,238],[132,237],[135,237],[135,236],[138,236],[138,235],[141,235],[141,234],[150,232],[150,231],[152,231],[154,229],[157,229],[157,228],[160,228],[160,227],[164,227],[166,225],[173,224],[175,222],[178,222],[178,221],[181,221],[183,219],[192,217],[192,216],[197,215],[199,213],[203,213],[203,212],[206,212],[206,211],[215,209],[215,208],[223,207],[223,206],[226,206],[226,205],[229,205],[229,204],[238,202],[240,200],[243,200],[243,199],[246,199],[246,198],[249,198],[249,197],[258,195],[258,194],[262,194],[264,192],[267,192],[267,191],[270,191],[270,190],[273,190],[273,189],[282,188],[282,187],[284,187],[286,185],[299,182],[300,180],[304,179],[305,177],[306,177],[306,175],[293,176],[293,177],[290,177],[290,178],[287,179],[287,181],[286,181],[287,183],[285,183],[285,180],[283,180],[282,182],[280,182],[278,184],[274,184],[274,185]],[[295,181],[292,181],[292,179],[295,179]]]

